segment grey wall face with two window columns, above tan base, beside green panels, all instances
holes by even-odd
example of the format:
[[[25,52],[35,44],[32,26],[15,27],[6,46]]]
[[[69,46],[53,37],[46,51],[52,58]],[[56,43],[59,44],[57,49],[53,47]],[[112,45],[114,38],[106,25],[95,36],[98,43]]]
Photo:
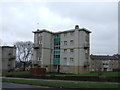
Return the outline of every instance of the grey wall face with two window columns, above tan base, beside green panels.
[[[74,33],[74,32],[73,32]],[[75,33],[74,33],[75,34]],[[74,41],[73,45],[70,45],[70,40]],[[67,45],[64,45],[64,41],[67,41]],[[75,60],[75,35],[71,36],[70,33],[67,33],[67,37],[64,37],[64,33],[61,34],[61,51],[60,51],[60,65],[70,65],[70,58],[74,58]],[[67,52],[64,52],[64,49],[67,50]],[[70,49],[73,49],[74,52],[70,53]],[[64,58],[67,58],[67,63],[64,63]],[[74,62],[74,64],[72,64],[72,66],[74,66],[76,64],[76,62]]]

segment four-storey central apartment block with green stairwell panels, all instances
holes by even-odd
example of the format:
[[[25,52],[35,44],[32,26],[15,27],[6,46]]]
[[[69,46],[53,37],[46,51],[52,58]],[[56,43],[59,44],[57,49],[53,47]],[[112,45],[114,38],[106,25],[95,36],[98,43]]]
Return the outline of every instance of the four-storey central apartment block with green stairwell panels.
[[[85,28],[34,31],[33,67],[47,72],[82,74],[89,71],[90,31]]]

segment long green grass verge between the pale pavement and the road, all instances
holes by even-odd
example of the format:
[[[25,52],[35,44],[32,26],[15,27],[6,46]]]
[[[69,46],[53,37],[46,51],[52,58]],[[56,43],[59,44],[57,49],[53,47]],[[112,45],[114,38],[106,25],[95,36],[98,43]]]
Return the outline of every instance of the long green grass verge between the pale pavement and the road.
[[[19,79],[3,79],[3,82],[45,85],[45,86],[64,87],[64,88],[118,88],[118,86],[120,85],[120,84],[57,82],[57,81],[19,80]]]

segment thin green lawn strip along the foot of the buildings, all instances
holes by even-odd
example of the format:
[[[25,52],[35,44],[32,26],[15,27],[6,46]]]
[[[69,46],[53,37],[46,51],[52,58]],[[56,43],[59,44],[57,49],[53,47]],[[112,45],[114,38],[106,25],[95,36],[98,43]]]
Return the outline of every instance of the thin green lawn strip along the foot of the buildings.
[[[29,75],[29,71],[23,71],[23,72],[9,72],[9,73],[3,73],[3,76],[6,75]],[[61,73],[46,73],[46,76],[97,76],[96,72],[91,72],[87,74],[61,74]],[[120,76],[120,72],[103,72],[104,76]]]

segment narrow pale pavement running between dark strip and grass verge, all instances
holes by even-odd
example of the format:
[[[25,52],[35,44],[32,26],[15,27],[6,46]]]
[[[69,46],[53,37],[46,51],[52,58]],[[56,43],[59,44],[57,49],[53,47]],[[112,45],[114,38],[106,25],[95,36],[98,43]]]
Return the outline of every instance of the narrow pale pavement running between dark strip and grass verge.
[[[80,82],[80,83],[102,83],[102,84],[120,84],[118,82],[94,82],[94,81],[68,81],[68,80],[49,80],[49,79],[30,79],[30,78],[13,78],[13,77],[0,77],[5,79],[20,79],[20,80],[41,80],[41,81],[57,81],[57,82]]]

